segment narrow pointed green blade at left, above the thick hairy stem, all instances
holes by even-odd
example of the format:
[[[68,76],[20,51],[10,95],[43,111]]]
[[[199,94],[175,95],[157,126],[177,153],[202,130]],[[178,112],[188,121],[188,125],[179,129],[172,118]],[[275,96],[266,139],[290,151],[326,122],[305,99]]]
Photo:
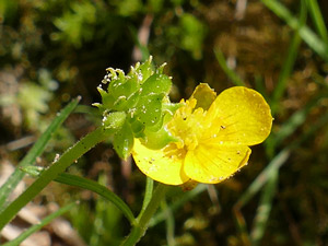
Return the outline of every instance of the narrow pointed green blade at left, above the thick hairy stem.
[[[67,119],[67,117],[73,112],[80,102],[81,96],[72,99],[52,120],[47,130],[40,136],[40,138],[36,141],[33,148],[28,151],[26,156],[20,162],[17,167],[24,167],[27,165],[32,165],[35,162],[35,159],[39,156],[48,141],[51,138],[51,134],[61,126],[61,124]],[[5,201],[9,195],[15,189],[20,180],[24,177],[24,173],[20,168],[15,168],[15,171],[11,174],[11,176],[7,179],[7,181],[0,187],[0,212],[5,208]]]

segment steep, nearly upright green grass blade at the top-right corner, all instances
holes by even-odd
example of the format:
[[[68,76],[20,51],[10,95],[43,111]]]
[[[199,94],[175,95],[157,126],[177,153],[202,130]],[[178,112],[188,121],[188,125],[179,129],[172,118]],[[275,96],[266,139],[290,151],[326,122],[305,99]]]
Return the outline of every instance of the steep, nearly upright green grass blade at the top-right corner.
[[[328,46],[328,32],[317,0],[306,0],[306,4],[318,34]]]

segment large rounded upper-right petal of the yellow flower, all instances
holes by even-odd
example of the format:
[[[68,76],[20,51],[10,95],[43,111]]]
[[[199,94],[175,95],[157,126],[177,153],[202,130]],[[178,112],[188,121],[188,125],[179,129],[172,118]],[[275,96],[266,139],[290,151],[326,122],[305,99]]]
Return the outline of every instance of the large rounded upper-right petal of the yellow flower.
[[[209,131],[224,143],[254,145],[269,136],[272,116],[261,94],[235,86],[216,97],[208,110],[207,121],[213,122]]]

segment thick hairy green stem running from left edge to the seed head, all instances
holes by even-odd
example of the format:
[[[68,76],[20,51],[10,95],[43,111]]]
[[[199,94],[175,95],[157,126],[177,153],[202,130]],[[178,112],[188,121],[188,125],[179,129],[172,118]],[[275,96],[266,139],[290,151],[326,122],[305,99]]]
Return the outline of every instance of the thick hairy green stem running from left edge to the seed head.
[[[65,169],[81,155],[86,153],[97,143],[104,141],[107,137],[108,136],[104,128],[99,127],[77,142],[72,148],[68,149],[58,161],[54,162],[47,169],[45,169],[38,179],[36,179],[20,197],[17,197],[0,213],[0,231],[51,180],[54,180],[60,173],[65,172]]]

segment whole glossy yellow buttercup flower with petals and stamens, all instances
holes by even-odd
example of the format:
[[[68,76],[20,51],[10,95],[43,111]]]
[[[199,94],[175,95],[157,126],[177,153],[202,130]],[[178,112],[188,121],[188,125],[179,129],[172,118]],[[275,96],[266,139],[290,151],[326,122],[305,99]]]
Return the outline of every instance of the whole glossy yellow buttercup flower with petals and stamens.
[[[231,87],[216,97],[207,84],[200,84],[183,103],[166,126],[179,141],[161,150],[134,141],[136,164],[160,183],[220,183],[245,166],[248,147],[261,143],[271,131],[269,105],[247,87]]]

